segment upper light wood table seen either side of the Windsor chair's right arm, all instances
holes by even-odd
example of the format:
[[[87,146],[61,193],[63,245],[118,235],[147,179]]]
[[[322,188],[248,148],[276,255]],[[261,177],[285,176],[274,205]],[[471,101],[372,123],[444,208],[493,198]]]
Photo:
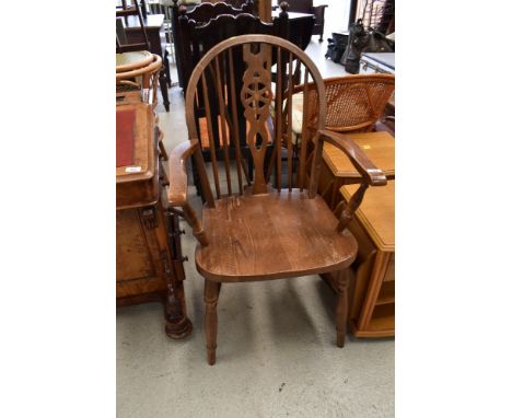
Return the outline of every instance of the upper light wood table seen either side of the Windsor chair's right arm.
[[[395,178],[395,138],[389,132],[379,131],[345,135],[364,151],[368,158],[384,172],[388,179]],[[358,183],[361,176],[347,155],[330,143],[324,143],[323,156],[318,189],[327,201],[327,205],[331,209],[335,209],[341,199],[339,188],[345,184]]]

